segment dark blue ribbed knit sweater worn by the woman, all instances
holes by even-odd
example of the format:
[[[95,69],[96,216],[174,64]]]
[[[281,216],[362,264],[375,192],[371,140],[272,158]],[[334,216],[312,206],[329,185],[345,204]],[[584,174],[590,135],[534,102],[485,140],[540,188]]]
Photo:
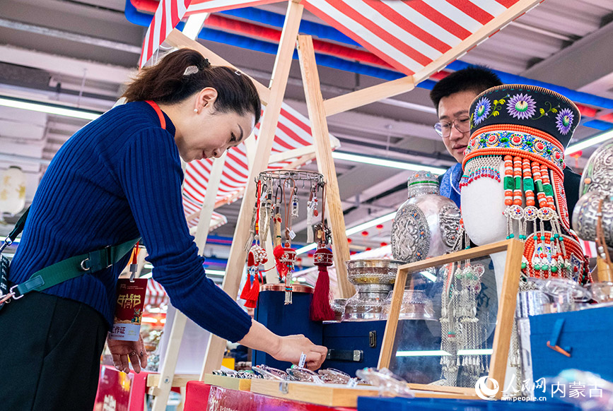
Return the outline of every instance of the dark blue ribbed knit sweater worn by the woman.
[[[146,102],[128,103],[62,145],[34,196],[10,280],[21,283],[57,261],[141,236],[153,278],[173,305],[211,333],[238,341],[251,318],[204,274],[183,214],[175,127],[165,119],[166,130]],[[45,292],[88,304],[110,324],[117,277],[128,260],[129,254]]]

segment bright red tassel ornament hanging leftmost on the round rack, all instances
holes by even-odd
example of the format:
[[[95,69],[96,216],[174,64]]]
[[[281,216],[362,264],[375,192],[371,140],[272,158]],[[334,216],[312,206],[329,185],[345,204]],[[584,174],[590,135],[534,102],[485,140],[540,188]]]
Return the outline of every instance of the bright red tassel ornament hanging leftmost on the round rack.
[[[256,196],[255,218],[253,219],[254,227],[252,228],[254,244],[250,247],[249,254],[247,255],[247,280],[245,281],[243,291],[240,292],[240,298],[245,299],[245,306],[248,308],[255,308],[257,305],[260,281],[264,282],[264,278],[260,278],[259,266],[268,261],[266,251],[259,245],[259,211],[262,202],[262,181],[257,182]]]

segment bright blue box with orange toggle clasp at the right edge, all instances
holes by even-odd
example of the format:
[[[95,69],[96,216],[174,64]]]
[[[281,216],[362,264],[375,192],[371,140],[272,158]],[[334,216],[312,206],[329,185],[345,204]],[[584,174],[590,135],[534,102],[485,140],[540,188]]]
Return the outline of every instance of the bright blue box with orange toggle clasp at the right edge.
[[[530,317],[535,381],[564,369],[580,369],[613,381],[613,306]],[[564,353],[548,347],[559,347]]]

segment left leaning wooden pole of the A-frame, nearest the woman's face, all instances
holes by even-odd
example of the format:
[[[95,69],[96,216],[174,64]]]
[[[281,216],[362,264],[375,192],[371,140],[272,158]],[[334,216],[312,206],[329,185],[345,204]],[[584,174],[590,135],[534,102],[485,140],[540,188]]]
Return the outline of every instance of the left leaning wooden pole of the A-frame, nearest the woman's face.
[[[240,204],[240,213],[236,222],[232,246],[230,247],[226,276],[223,278],[223,290],[233,298],[238,295],[240,277],[245,267],[245,258],[247,258],[247,253],[243,247],[245,242],[247,242],[247,237],[249,237],[249,223],[253,209],[252,199],[255,197],[256,189],[254,179],[257,174],[268,167],[268,160],[276,133],[276,124],[279,121],[279,114],[281,114],[281,103],[283,102],[289,69],[291,68],[293,50],[296,47],[296,36],[298,35],[303,8],[296,1],[288,3],[284,28],[281,34],[281,41],[279,42],[279,50],[276,54],[276,61],[272,71],[270,99],[264,111],[264,118],[262,119],[262,126],[259,131],[259,138],[257,139],[255,159],[247,179],[245,196],[243,196],[245,201]],[[211,335],[209,346],[206,350],[201,380],[204,379],[204,374],[221,367],[221,359],[225,348],[226,340]]]

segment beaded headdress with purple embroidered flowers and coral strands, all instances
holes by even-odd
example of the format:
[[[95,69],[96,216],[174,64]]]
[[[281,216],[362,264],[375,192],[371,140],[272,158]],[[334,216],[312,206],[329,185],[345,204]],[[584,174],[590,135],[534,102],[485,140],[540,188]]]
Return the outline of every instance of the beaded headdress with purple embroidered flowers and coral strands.
[[[460,188],[479,178],[502,183],[507,238],[525,242],[525,275],[587,280],[588,265],[571,232],[564,193],[564,149],[579,119],[571,100],[532,85],[490,88],[470,106]]]

